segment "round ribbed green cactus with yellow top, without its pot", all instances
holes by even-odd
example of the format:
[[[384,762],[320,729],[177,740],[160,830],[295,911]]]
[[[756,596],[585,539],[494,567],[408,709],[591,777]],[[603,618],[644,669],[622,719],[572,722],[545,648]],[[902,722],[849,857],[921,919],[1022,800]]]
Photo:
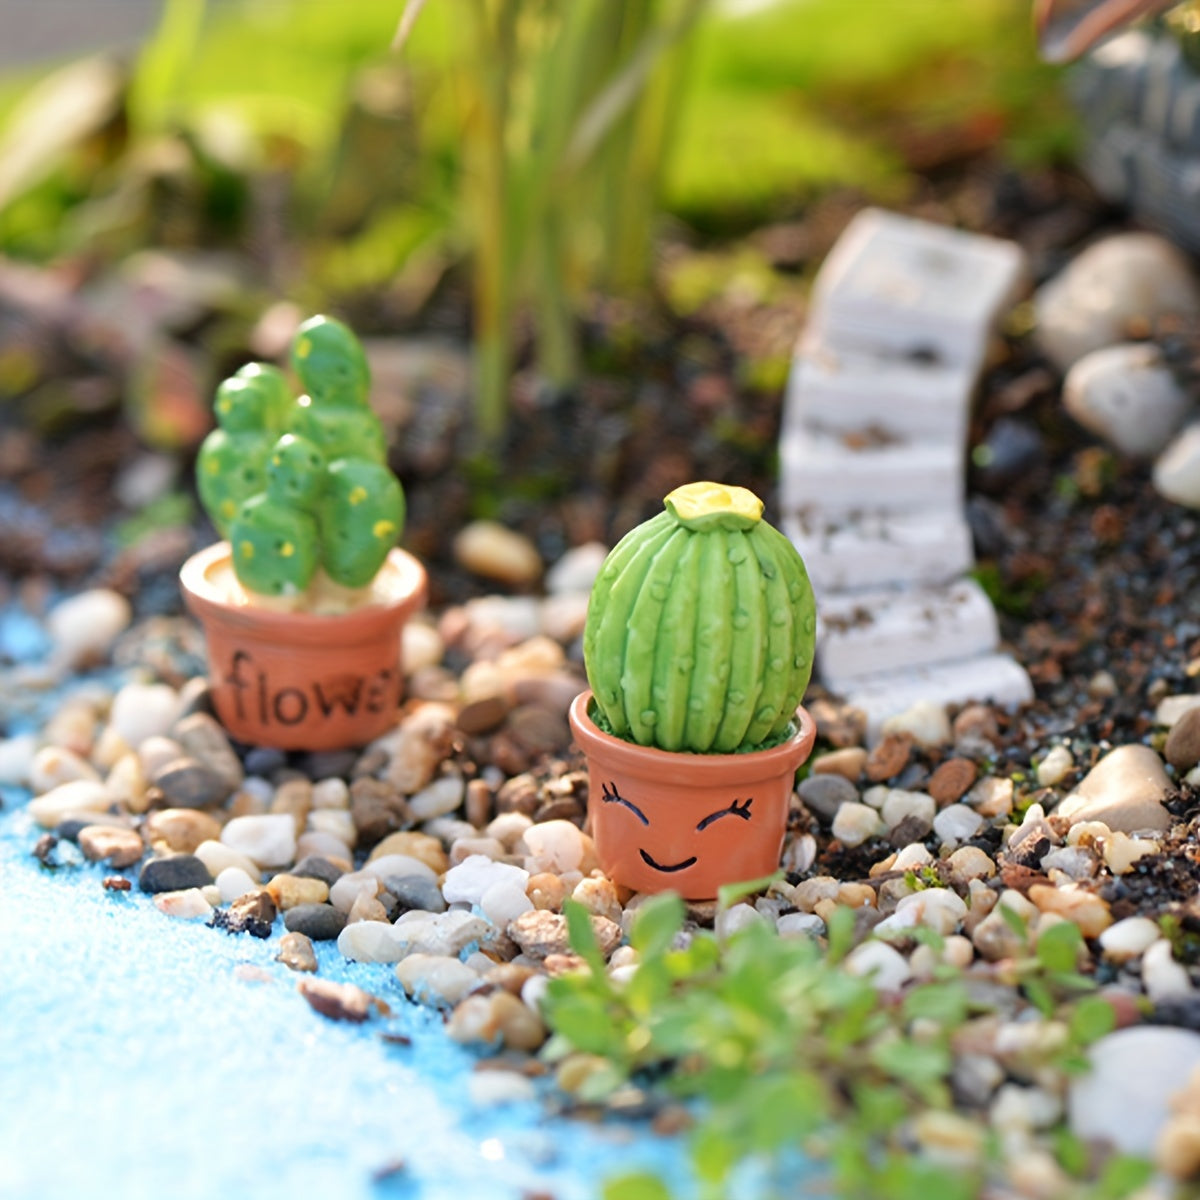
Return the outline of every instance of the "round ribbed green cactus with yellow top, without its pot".
[[[592,590],[598,715],[638,745],[731,754],[787,736],[812,671],[804,562],[744,487],[688,484],[630,530]]]

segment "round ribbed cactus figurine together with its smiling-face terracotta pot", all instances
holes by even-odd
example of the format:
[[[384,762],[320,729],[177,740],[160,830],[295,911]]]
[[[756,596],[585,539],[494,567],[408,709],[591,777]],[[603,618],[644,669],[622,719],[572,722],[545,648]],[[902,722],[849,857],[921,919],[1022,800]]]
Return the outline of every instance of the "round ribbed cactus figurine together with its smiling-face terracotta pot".
[[[640,892],[716,895],[779,866],[816,607],[799,553],[743,487],[688,484],[600,570],[571,706],[601,866]]]

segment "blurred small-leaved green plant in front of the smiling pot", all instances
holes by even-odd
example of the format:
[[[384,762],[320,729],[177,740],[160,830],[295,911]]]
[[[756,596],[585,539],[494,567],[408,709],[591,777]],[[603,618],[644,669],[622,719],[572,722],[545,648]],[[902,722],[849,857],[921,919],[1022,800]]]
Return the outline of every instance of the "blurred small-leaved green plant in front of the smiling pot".
[[[941,967],[900,997],[883,995],[845,965],[850,910],[834,913],[827,946],[782,938],[766,924],[720,944],[708,932],[686,934],[683,904],[667,893],[640,911],[630,934],[637,967],[614,982],[587,914],[569,905],[568,920],[588,970],[551,980],[544,1054],[602,1060],[577,1093],[582,1100],[604,1102],[634,1081],[696,1102],[690,1154],[701,1195],[726,1195],[731,1172],[751,1158],[766,1165],[778,1194],[796,1194],[802,1170],[822,1176],[817,1187],[832,1184],[832,1194],[864,1200],[968,1200],[1000,1170],[982,1123],[964,1165],[912,1153],[922,1116],[950,1109],[956,1034],[977,1015],[990,1020],[958,970]],[[938,935],[920,932],[936,948]],[[1054,1027],[1062,1026],[1060,1049],[1040,1063],[1048,1069],[1075,1069],[1082,1050],[1112,1028],[1111,1007],[1087,995],[1094,985],[1075,973],[1080,944],[1076,926],[1054,926],[1021,968],[1026,990],[1049,997]],[[1099,1192],[1073,1196],[1106,1195],[1110,1175],[1145,1172],[1146,1164],[1124,1159],[1078,1162],[1069,1138],[1061,1140],[1064,1169],[1081,1180],[1099,1172]],[[604,1192],[606,1200],[671,1194],[646,1172],[619,1176]]]

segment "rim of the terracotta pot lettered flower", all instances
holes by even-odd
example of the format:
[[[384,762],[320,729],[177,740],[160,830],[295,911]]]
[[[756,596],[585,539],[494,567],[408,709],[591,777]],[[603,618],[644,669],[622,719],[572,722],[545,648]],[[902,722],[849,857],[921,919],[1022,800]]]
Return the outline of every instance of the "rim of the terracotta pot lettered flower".
[[[397,613],[406,614],[425,602],[427,576],[420,562],[398,546],[388,552],[386,565],[397,572],[397,587],[384,601],[362,605],[342,613],[280,612],[254,605],[232,604],[214,587],[208,572],[223,559],[233,557],[228,541],[217,541],[197,551],[180,568],[179,581],[188,605],[203,613],[220,613],[221,618],[247,631],[292,630],[296,635],[328,636],[332,625],[353,618],[364,626],[390,625]]]

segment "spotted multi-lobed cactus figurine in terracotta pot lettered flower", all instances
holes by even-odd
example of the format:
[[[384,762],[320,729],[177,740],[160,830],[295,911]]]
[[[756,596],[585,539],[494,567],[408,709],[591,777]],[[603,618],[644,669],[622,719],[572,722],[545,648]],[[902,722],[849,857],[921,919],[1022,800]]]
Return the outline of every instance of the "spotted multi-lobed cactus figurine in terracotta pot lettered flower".
[[[226,540],[188,559],[181,581],[229,732],[337,749],[395,721],[401,629],[425,598],[425,571],[395,545],[404,494],[358,338],[313,317],[296,331],[292,366],[299,396],[263,364],[217,389],[197,488]]]

